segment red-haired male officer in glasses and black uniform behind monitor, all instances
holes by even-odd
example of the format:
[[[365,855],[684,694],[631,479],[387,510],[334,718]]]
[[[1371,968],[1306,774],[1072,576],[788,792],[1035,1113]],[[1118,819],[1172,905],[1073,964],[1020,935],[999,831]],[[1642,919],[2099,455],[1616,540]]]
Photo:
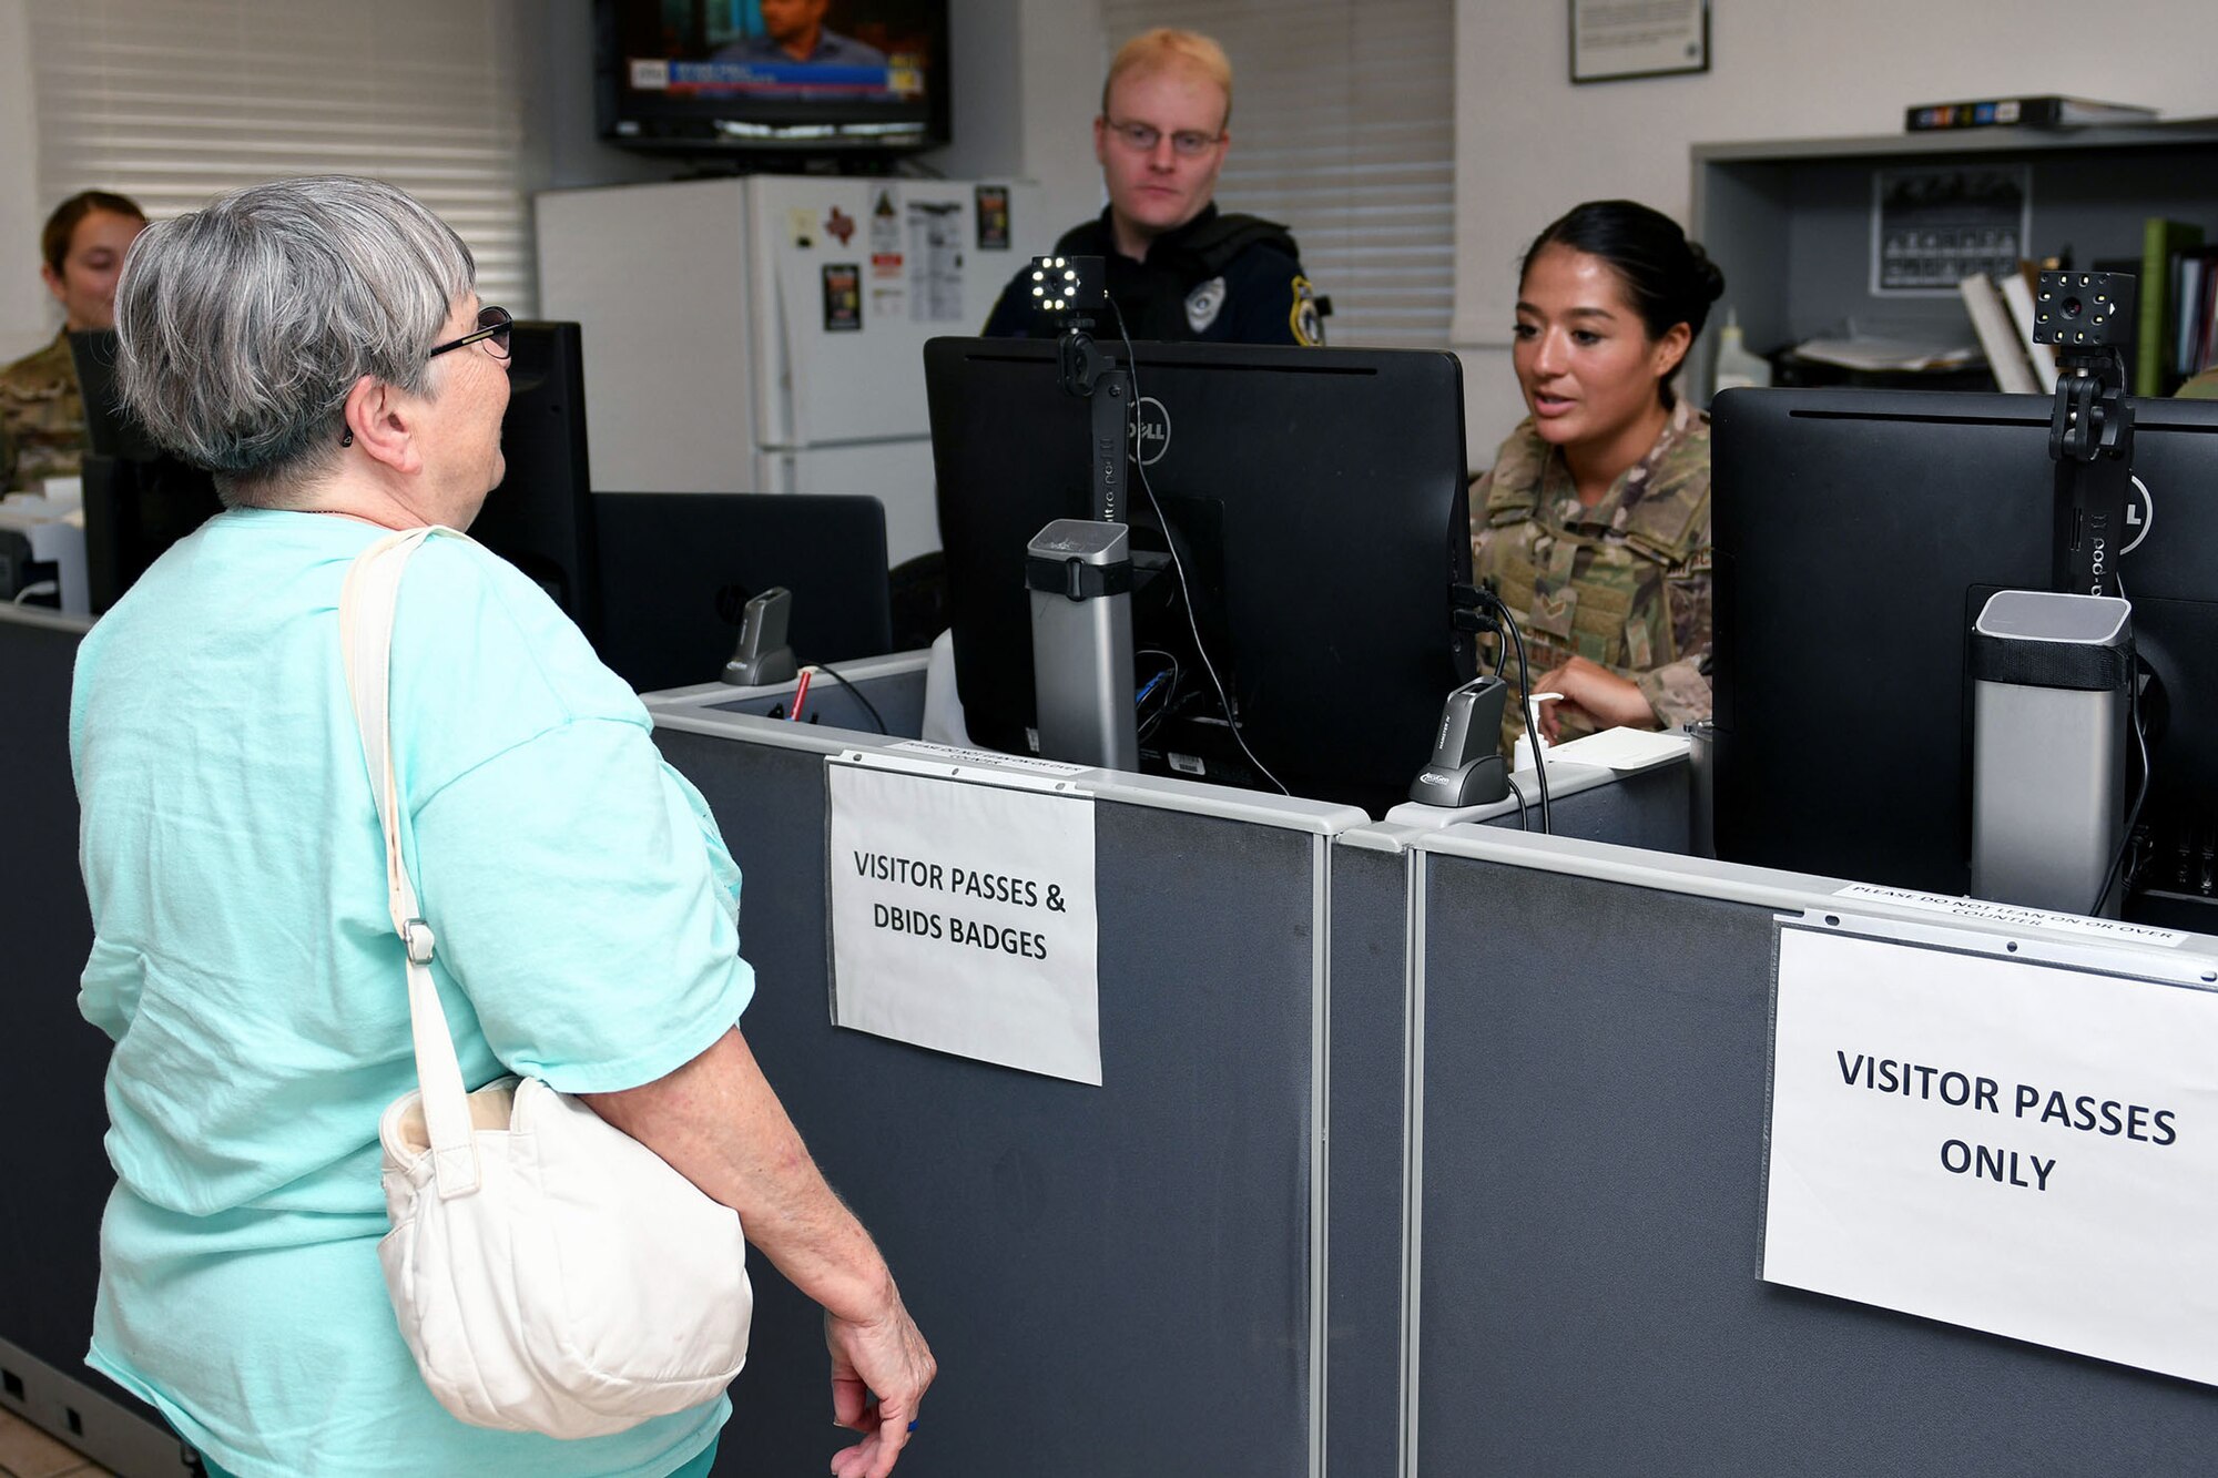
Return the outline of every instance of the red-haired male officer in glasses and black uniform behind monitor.
[[[1286,229],[1211,202],[1231,109],[1233,69],[1207,36],[1158,29],[1125,42],[1093,120],[1109,209],[1056,253],[1109,262],[1109,297],[1133,340],[1322,344],[1322,304]],[[994,304],[989,337],[1060,331],[1034,315],[1029,288],[1027,264]]]

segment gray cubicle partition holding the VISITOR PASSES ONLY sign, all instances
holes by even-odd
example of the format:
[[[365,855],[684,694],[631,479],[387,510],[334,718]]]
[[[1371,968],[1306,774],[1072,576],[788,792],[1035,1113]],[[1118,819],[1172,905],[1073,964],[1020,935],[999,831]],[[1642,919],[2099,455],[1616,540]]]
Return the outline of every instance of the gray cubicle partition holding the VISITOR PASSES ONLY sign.
[[[1839,883],[1415,846],[1404,1471],[2209,1471],[2218,1391],[1757,1278],[1774,917]]]

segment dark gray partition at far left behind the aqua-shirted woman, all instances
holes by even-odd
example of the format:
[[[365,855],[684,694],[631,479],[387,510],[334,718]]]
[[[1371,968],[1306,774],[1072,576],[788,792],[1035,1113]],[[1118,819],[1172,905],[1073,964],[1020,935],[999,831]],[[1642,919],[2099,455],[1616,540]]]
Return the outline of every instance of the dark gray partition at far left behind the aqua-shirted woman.
[[[93,919],[78,877],[69,679],[87,624],[0,606],[0,1407],[131,1478],[184,1474],[138,1398],[84,1367],[100,1212],[109,1039],[78,1014]]]

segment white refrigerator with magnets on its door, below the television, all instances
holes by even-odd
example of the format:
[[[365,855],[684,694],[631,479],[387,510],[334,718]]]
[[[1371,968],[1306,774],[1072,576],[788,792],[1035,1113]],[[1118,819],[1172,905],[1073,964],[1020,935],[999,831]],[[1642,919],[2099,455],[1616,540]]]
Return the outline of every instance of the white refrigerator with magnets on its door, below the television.
[[[597,493],[872,493],[940,546],[923,344],[978,333],[1069,222],[1029,184],[750,175],[537,198],[539,313],[583,326]]]

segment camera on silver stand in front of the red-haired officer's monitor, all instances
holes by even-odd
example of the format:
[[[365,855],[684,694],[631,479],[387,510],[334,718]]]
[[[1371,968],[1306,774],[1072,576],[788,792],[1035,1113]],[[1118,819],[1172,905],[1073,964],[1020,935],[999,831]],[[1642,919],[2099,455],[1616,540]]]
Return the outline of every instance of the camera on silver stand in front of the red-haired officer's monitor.
[[[1127,422],[1131,371],[1093,342],[1089,313],[1109,306],[1102,257],[1034,257],[1031,308],[1060,324],[1062,391],[1091,408],[1087,519],[1056,519],[1025,548],[1031,679],[1040,755],[1107,770],[1140,763],[1131,677],[1131,530]]]

